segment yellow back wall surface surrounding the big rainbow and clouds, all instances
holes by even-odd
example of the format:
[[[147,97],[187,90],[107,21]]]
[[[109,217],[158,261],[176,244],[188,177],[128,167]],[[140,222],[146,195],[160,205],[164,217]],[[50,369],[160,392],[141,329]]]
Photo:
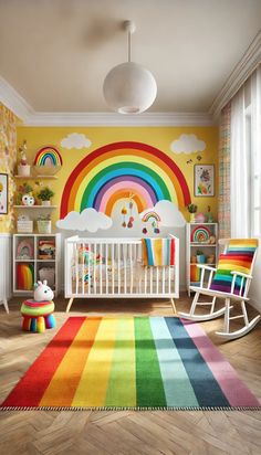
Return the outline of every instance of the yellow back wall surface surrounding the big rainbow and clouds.
[[[92,141],[90,148],[85,149],[64,149],[60,142],[69,134],[81,133],[85,134]],[[199,154],[174,154],[170,151],[170,144],[178,139],[181,134],[195,134],[200,140],[207,144],[206,150],[200,154],[202,160],[200,163],[216,166],[216,195],[212,198],[195,198],[194,195],[194,165],[199,163],[197,155]],[[156,147],[167,154],[175,160],[176,165],[182,171],[190,189],[191,201],[198,205],[198,211],[206,212],[207,205],[211,207],[211,211],[217,220],[217,184],[218,184],[218,127],[18,127],[18,145],[23,140],[28,142],[28,161],[33,163],[36,151],[46,145],[53,145],[59,148],[63,158],[63,168],[58,173],[58,181],[50,181],[49,186],[55,192],[53,198],[54,204],[60,204],[64,184],[75,168],[75,166],[90,152],[98,147],[117,141],[138,141]],[[192,163],[187,163],[189,159]],[[187,219],[189,214],[184,211]],[[59,218],[59,211],[54,213],[53,221]]]

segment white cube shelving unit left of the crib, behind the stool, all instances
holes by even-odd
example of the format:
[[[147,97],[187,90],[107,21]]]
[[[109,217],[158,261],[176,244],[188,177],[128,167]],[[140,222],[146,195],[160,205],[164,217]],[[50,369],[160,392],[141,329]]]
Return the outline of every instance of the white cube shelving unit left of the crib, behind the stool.
[[[52,258],[39,258],[39,242],[40,241],[53,241],[55,244],[55,255]],[[20,257],[18,247],[21,242],[29,242],[31,245],[30,258]],[[25,245],[25,243],[24,243]],[[40,279],[39,271],[43,267],[54,268],[54,295],[58,296],[61,288],[61,234],[13,234],[12,242],[12,257],[13,257],[13,295],[33,295],[33,289],[21,289],[18,283],[18,264],[31,264],[31,269],[33,271],[33,283]]]

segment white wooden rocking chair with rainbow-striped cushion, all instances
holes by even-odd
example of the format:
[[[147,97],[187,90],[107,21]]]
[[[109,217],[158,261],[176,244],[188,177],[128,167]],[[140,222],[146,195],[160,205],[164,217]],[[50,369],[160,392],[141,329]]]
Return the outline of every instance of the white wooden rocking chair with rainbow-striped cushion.
[[[217,268],[197,264],[201,268],[200,285],[190,286],[190,290],[195,293],[190,311],[179,313],[179,316],[189,320],[203,321],[225,315],[223,331],[216,334],[227,339],[236,339],[247,335],[261,319],[258,315],[249,321],[246,308],[259,242],[257,239],[226,239],[220,240],[219,243],[225,245],[225,251],[219,255]],[[209,272],[209,277],[205,284],[206,271]],[[198,301],[200,295],[210,296],[212,299],[211,301]],[[217,298],[223,299],[225,306],[215,311]],[[231,301],[241,304],[242,314],[240,316],[230,316]],[[210,306],[210,310],[196,315],[197,306]],[[239,330],[230,331],[230,320],[238,318],[243,318],[244,326]]]

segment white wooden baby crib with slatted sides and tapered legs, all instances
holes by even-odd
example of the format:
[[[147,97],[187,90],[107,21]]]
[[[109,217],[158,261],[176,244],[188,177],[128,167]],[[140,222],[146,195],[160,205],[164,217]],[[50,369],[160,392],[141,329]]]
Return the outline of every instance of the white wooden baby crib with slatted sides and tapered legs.
[[[145,266],[142,239],[65,240],[65,297],[70,311],[74,298],[179,297],[179,240],[175,265]]]

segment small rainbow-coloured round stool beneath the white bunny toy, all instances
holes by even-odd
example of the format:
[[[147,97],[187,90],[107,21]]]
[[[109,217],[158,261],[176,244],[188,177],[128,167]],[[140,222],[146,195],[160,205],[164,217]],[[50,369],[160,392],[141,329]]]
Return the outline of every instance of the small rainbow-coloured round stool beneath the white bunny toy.
[[[43,334],[45,328],[53,329],[56,326],[53,311],[54,303],[52,300],[24,300],[21,307],[22,329],[39,334]]]

